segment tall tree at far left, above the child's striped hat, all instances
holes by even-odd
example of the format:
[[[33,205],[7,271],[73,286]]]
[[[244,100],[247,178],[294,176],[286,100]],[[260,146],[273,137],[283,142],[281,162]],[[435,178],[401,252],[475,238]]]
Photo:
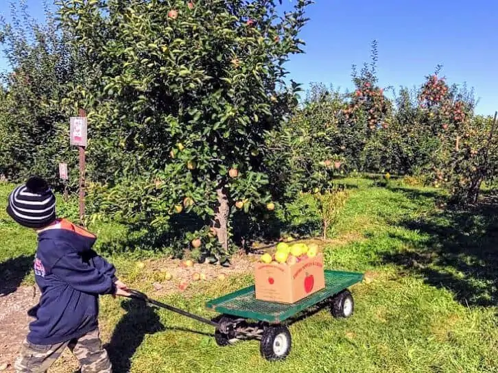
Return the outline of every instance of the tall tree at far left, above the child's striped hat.
[[[48,9],[45,19],[33,19],[21,2],[11,4],[10,21],[0,21],[0,44],[9,67],[0,75],[0,175],[14,181],[37,173],[61,186],[58,163],[67,162],[75,171],[71,160],[78,159],[77,152],[71,156],[67,141],[71,113],[60,104],[75,69],[67,35],[58,32]]]

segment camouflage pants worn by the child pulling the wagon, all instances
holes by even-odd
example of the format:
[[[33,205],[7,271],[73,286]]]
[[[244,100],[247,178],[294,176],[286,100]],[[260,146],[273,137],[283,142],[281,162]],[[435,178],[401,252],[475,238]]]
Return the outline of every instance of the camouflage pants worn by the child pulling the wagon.
[[[18,373],[45,373],[65,348],[69,348],[80,361],[81,373],[112,373],[110,360],[106,350],[102,348],[98,329],[78,339],[49,346],[30,344],[25,340],[14,368]]]

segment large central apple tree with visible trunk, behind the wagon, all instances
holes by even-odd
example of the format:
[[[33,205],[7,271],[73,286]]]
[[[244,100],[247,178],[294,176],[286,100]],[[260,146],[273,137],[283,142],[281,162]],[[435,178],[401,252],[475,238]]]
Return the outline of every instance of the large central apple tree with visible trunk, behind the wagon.
[[[65,102],[89,113],[95,208],[166,235],[198,217],[183,242],[228,252],[230,216],[272,200],[265,134],[289,112],[284,65],[310,3],[59,0],[87,61]]]

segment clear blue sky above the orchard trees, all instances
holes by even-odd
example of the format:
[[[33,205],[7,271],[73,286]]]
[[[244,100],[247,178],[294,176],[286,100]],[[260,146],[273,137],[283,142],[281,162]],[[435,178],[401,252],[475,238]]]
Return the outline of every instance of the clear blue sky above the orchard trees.
[[[289,8],[296,0],[283,0]],[[27,0],[42,16],[41,0]],[[370,60],[377,40],[381,86],[414,86],[437,64],[451,83],[475,88],[477,112],[498,110],[498,1],[473,0],[315,0],[303,29],[306,53],[287,64],[290,77],[352,88],[351,65]],[[8,16],[7,0],[0,14]],[[0,60],[0,69],[5,69]]]

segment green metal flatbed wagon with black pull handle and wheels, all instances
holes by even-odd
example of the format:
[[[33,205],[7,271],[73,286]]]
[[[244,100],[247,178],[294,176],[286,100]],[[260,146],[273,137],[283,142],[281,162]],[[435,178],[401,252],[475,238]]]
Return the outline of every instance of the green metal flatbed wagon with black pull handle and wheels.
[[[161,308],[215,326],[218,346],[228,346],[243,339],[259,339],[261,355],[269,361],[285,359],[291,350],[289,324],[298,317],[328,307],[333,317],[350,317],[354,301],[348,287],[361,282],[363,274],[356,272],[325,271],[324,289],[293,304],[257,300],[254,285],[210,300],[206,307],[220,313],[207,320],[173,306],[151,300],[139,291],[131,290],[131,298],[143,300]]]

